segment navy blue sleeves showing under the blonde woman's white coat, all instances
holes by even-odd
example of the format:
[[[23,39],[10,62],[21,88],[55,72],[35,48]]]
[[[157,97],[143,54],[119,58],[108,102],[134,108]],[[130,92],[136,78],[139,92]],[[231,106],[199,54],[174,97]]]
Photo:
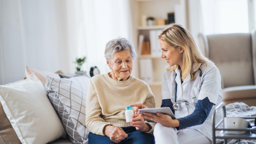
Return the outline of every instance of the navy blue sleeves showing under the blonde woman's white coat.
[[[172,113],[175,113],[175,110],[172,108],[172,102],[170,99],[162,100],[161,107],[170,107]],[[178,118],[180,126],[176,127],[177,130],[185,129],[187,127],[195,126],[202,124],[207,117],[209,116],[213,108],[213,103],[209,101],[206,97],[203,100],[198,100],[196,104],[196,109],[194,112],[186,117]]]

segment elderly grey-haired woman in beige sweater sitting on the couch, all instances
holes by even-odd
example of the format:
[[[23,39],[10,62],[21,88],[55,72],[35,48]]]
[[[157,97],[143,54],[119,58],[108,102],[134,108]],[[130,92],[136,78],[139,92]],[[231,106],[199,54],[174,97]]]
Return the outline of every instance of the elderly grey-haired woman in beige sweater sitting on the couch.
[[[124,39],[110,40],[105,57],[111,72],[90,79],[86,99],[86,126],[93,143],[154,143],[154,123],[139,114],[125,121],[125,107],[135,103],[153,108],[155,98],[149,85],[131,75],[136,52]]]

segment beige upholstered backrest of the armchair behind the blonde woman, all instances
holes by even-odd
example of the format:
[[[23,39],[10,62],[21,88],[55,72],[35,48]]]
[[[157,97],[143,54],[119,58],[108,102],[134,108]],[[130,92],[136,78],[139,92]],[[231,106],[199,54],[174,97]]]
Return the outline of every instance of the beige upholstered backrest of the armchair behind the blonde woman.
[[[250,33],[209,35],[207,41],[224,87],[254,85]]]

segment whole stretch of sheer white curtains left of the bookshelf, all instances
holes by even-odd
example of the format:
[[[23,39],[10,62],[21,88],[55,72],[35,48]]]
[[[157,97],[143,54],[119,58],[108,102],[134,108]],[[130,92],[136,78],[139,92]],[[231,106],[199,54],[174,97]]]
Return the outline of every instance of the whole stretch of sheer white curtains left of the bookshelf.
[[[125,37],[133,42],[129,0],[0,0],[0,85],[23,79],[25,65],[43,71],[108,72],[105,44]]]

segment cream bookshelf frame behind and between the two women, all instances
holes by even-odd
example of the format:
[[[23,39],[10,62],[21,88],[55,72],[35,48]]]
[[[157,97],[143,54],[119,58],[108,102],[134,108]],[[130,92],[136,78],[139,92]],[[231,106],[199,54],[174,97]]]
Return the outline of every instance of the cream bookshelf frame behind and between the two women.
[[[136,10],[133,15],[136,18],[136,42],[135,47],[138,52],[138,37],[139,35],[144,36],[144,40],[150,40],[150,30],[164,29],[168,25],[153,25],[153,26],[141,26],[142,15],[147,15],[147,17],[154,17],[156,19],[167,19],[167,14],[169,12],[174,12],[174,5],[180,4],[180,0],[134,0],[136,5]],[[159,56],[151,55],[140,55],[137,57],[137,73],[140,78],[140,59],[149,58],[152,60],[153,68],[153,82],[149,83],[149,86],[155,96],[156,107],[160,107],[162,103],[162,78],[165,66],[168,65],[165,59]],[[147,64],[146,64],[147,65]]]

